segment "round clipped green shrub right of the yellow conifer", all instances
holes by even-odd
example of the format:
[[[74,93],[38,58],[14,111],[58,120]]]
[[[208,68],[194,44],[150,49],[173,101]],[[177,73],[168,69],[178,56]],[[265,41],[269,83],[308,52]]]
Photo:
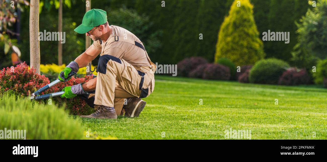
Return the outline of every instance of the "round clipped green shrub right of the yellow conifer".
[[[287,68],[289,65],[279,59],[260,60],[250,70],[249,80],[251,83],[278,84],[279,77]]]

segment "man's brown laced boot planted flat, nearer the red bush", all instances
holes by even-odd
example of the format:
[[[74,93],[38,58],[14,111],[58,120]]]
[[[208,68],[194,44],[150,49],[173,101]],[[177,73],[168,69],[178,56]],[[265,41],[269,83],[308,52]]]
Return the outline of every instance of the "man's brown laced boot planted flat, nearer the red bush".
[[[81,118],[95,118],[95,119],[117,119],[116,110],[113,107],[108,107],[100,105],[96,108],[96,112],[85,116],[80,116]]]

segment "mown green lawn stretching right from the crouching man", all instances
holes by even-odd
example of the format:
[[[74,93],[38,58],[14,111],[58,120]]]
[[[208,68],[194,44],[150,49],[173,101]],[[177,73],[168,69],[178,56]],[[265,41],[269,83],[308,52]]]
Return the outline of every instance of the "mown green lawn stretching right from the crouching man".
[[[138,118],[82,119],[82,125],[118,139],[225,139],[230,128],[251,130],[251,139],[327,139],[326,96],[327,89],[314,87],[156,75]]]

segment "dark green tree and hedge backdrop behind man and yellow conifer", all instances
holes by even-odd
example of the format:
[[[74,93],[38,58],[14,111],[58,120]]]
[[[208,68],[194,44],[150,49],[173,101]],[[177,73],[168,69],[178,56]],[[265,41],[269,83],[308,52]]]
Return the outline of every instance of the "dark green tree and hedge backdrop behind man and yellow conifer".
[[[43,1],[42,1],[43,2]],[[44,0],[40,14],[40,31],[56,32],[58,9],[56,1]],[[85,36],[73,29],[85,13],[85,0],[64,1],[63,63],[69,63],[85,50]],[[109,24],[129,29],[144,42],[151,60],[160,64],[176,64],[185,57],[201,56],[214,61],[218,32],[228,15],[233,0],[92,0],[91,8],[107,11]],[[290,32],[290,43],[264,41],[266,58],[275,57],[290,64],[291,52],[297,43],[297,26],[308,8],[307,0],[250,0],[259,38],[271,31]],[[318,3],[318,2],[317,2]],[[67,5],[69,4],[69,5]],[[53,6],[53,7],[51,7]],[[28,22],[29,8],[21,13],[20,42],[21,60],[29,63]],[[203,34],[203,40],[199,34]],[[0,44],[0,53],[4,51]],[[41,41],[41,63],[57,63],[58,43]],[[2,67],[11,66],[9,55],[0,55]],[[96,62],[95,62],[96,64]]]

